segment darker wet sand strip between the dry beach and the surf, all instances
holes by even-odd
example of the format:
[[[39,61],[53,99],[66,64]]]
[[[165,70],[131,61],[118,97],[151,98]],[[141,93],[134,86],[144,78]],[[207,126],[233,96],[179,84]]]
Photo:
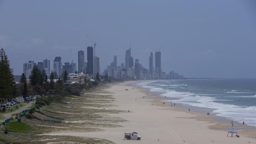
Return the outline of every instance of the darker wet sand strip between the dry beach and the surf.
[[[142,88],[142,92],[144,94],[147,94],[148,91],[150,91],[149,88],[142,87],[142,86],[137,86],[135,85],[136,83],[140,83],[144,81],[137,81],[134,83],[130,83],[129,86],[132,87],[140,87]],[[160,96],[161,92],[154,92],[154,93],[149,93],[148,97],[152,98],[155,103],[157,103],[159,106],[162,107],[171,107],[172,103],[171,102],[166,102],[165,98],[163,96]],[[170,98],[175,100],[175,98]],[[165,102],[163,105],[162,102]],[[192,108],[192,109],[191,109]],[[190,109],[190,111],[188,111]],[[195,109],[195,111],[193,111]],[[211,126],[209,126],[209,129],[214,129],[218,131],[237,131],[241,135],[245,135],[249,138],[256,138],[256,127],[254,126],[249,126],[249,125],[244,125],[233,121],[234,127],[231,126],[231,120],[224,117],[224,116],[217,116],[216,113],[211,113],[210,116],[207,116],[205,113],[202,113],[202,111],[206,110],[207,108],[201,108],[201,107],[193,107],[190,105],[186,105],[183,103],[176,103],[174,111],[180,111],[184,113],[190,113],[190,114],[195,114],[196,116],[194,119],[199,120],[199,121],[205,121],[205,122],[210,122]]]

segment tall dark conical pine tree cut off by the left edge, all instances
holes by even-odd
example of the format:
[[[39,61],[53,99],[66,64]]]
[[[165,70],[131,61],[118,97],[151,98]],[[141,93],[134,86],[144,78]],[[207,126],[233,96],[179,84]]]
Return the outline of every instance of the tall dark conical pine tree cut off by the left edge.
[[[12,98],[16,94],[15,79],[4,49],[0,50],[0,98]]]

